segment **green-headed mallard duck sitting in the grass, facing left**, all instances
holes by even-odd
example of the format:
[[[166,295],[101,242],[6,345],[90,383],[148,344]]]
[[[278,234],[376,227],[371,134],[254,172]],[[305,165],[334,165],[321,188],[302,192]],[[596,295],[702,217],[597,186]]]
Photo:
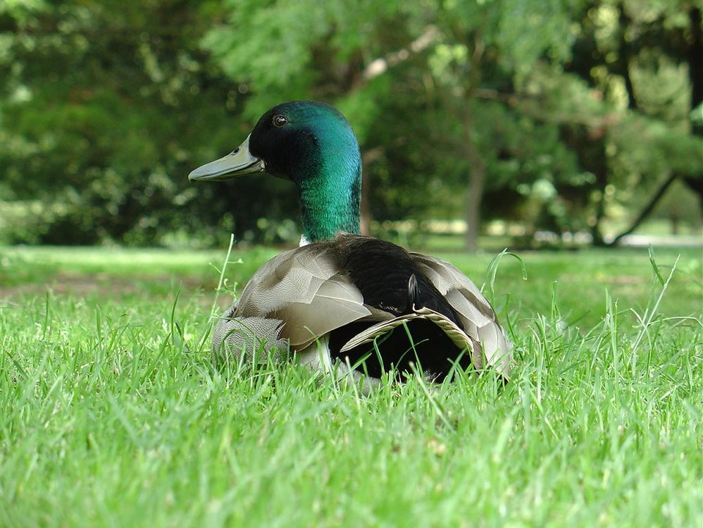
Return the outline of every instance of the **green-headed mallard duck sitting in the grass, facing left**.
[[[323,102],[292,101],[259,118],[239,147],[190,181],[267,173],[297,188],[302,235],[248,281],[218,318],[213,360],[292,360],[373,386],[492,369],[508,381],[512,345],[479,288],[449,262],[360,234],[361,152]]]

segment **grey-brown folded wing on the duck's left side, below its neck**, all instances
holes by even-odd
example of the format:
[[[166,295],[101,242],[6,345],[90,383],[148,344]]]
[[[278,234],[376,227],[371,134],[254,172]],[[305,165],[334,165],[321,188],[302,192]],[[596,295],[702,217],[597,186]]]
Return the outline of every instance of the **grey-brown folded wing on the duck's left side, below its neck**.
[[[338,269],[329,245],[278,254],[256,271],[230,317],[280,321],[278,339],[302,350],[326,333],[363,318],[382,317]]]

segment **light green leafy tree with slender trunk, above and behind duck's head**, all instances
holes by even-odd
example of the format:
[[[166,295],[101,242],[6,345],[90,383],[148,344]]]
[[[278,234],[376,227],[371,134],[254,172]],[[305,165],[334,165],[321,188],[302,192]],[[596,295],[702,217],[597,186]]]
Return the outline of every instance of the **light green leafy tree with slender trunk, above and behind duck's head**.
[[[225,5],[227,22],[213,29],[205,44],[225,73],[251,90],[244,109],[251,118],[283,99],[332,99],[365,142],[371,125],[392,104],[388,87],[399,79],[422,85],[411,77],[428,80],[430,73],[424,90],[442,107],[444,128],[467,167],[466,245],[476,249],[491,148],[479,146],[483,126],[475,108],[481,90],[496,84],[511,90],[545,54],[566,54],[571,36],[564,6],[529,0],[418,6],[310,0],[263,6],[230,0]],[[368,82],[373,68],[386,72],[406,61],[421,67],[394,70],[391,82]]]

